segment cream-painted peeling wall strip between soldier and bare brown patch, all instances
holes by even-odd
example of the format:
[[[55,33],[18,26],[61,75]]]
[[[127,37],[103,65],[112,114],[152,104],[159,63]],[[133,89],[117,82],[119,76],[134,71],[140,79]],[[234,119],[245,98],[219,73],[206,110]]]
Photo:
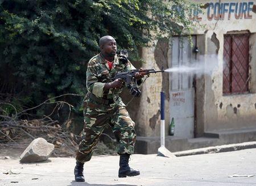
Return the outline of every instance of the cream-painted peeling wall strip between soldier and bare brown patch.
[[[156,45],[156,43],[155,43]],[[144,69],[157,69],[155,61],[156,47],[142,48]],[[142,95],[139,99],[139,108],[135,117],[136,130],[139,136],[156,137],[160,135],[160,91],[162,90],[163,77],[161,73],[151,74],[142,86]]]

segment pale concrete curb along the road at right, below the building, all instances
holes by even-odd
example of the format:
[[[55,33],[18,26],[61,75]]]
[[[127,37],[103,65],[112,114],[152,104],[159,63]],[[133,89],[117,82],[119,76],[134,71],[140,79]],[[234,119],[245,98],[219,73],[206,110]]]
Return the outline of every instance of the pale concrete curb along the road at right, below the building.
[[[247,148],[256,148],[256,141],[255,142],[245,142],[245,143],[235,143],[235,144],[224,144],[221,146],[206,147],[206,148],[197,148],[197,149],[193,149],[193,150],[174,152],[174,155],[177,157],[190,156],[190,155],[197,155],[197,154],[230,152],[230,151],[243,150],[243,149],[247,149]]]

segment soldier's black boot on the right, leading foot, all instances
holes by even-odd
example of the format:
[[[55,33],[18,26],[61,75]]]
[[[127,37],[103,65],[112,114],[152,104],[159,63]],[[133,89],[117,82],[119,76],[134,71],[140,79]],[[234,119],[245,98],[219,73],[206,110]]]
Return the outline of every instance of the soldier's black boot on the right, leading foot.
[[[118,177],[126,177],[126,176],[137,176],[139,175],[139,171],[133,170],[129,167],[129,158],[130,154],[121,154],[120,162],[119,162],[119,171]]]

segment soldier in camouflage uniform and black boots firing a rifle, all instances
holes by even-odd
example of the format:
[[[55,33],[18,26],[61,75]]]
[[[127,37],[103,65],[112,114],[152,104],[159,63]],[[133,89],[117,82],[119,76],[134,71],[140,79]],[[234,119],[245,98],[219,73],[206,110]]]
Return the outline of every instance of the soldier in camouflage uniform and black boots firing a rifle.
[[[134,153],[136,133],[135,123],[118,93],[122,91],[122,80],[110,81],[119,71],[135,69],[129,60],[120,60],[117,44],[112,36],[100,39],[101,52],[92,57],[86,71],[86,87],[88,93],[84,98],[84,130],[79,150],[76,155],[75,180],[85,181],[83,175],[84,163],[93,154],[100,135],[107,125],[111,126],[118,141],[117,153],[120,155],[118,177],[137,176],[139,171],[129,167],[130,155]],[[143,76],[135,74],[137,84],[141,84]]]

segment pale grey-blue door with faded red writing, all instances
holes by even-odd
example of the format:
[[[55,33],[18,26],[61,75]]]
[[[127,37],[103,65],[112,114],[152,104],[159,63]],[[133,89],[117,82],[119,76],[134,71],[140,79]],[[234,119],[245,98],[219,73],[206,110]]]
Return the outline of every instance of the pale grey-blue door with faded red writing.
[[[172,38],[171,56],[168,66],[171,68],[189,66],[196,63],[196,36],[192,36],[193,46],[187,37]],[[195,87],[191,73],[169,74],[170,80],[170,120],[174,118],[174,136],[194,138],[195,130]]]

